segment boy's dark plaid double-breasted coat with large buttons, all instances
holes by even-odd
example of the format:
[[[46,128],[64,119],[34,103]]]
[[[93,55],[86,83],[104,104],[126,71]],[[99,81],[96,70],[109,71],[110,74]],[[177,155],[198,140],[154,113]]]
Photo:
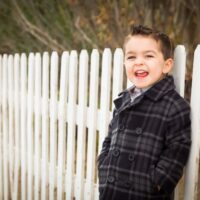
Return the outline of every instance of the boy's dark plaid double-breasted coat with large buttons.
[[[133,102],[125,90],[114,103],[98,157],[100,200],[171,199],[191,144],[190,107],[173,77]]]

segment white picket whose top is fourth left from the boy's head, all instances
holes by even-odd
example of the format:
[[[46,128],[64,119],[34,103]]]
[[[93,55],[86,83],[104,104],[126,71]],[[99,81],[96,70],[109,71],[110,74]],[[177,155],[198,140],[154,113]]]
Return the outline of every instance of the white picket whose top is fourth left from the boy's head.
[[[88,53],[82,50],[79,59],[79,91],[78,91],[78,132],[77,132],[77,158],[76,158],[76,198],[83,199],[85,175],[85,148],[86,148],[86,107],[87,107],[87,79],[88,79]]]

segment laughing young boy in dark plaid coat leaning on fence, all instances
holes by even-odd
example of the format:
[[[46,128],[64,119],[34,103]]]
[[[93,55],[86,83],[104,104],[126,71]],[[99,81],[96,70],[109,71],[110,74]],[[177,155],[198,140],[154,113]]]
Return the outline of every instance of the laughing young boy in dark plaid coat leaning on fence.
[[[171,200],[191,144],[190,108],[168,75],[173,47],[167,35],[140,25],[124,53],[133,86],[114,101],[98,158],[100,200]]]

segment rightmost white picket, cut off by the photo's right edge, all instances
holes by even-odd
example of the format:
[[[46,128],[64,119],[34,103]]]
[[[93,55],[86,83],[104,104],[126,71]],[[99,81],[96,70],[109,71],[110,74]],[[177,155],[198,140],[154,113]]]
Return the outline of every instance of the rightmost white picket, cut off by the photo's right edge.
[[[191,119],[192,119],[192,146],[186,167],[184,200],[195,199],[198,191],[198,168],[200,148],[200,45],[194,52],[192,92],[191,92]]]

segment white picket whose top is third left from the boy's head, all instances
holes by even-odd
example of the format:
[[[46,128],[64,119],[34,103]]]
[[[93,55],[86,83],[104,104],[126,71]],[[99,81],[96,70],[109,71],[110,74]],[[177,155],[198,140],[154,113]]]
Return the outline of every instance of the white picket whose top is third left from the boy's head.
[[[88,112],[88,149],[87,149],[87,171],[86,171],[86,191],[87,200],[94,199],[95,185],[95,161],[96,161],[96,140],[97,133],[97,109],[98,109],[98,86],[99,86],[99,52],[94,49],[91,54],[90,65],[90,93],[89,93],[89,112]]]

